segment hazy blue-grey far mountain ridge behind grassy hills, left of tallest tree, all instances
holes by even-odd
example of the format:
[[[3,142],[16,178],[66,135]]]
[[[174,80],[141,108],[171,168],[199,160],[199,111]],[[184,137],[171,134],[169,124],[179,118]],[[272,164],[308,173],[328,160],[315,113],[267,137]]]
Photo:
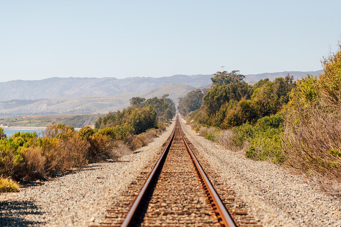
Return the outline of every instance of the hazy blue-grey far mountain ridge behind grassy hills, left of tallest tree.
[[[0,100],[58,99],[66,97],[107,97],[122,93],[142,93],[167,84],[201,87],[211,82],[212,75],[174,75],[170,77],[59,78],[12,80],[0,83]]]

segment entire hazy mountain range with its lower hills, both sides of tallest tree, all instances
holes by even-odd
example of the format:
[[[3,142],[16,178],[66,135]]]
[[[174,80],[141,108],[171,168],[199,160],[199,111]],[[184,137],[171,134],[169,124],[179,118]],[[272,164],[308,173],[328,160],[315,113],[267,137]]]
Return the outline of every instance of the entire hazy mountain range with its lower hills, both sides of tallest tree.
[[[322,72],[285,71],[246,75],[250,84],[260,79],[293,75],[295,79]],[[179,97],[198,87],[209,88],[213,75],[174,75],[170,77],[48,78],[44,80],[12,80],[0,83],[0,117],[55,114],[107,113],[129,106],[134,96]]]

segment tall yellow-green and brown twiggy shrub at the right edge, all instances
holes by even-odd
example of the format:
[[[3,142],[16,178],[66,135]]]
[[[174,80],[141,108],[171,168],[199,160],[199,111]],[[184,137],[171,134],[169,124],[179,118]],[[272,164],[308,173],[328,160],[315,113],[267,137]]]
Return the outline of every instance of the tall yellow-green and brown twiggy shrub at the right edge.
[[[298,81],[285,108],[286,163],[320,185],[341,191],[341,45],[323,61],[324,73]]]

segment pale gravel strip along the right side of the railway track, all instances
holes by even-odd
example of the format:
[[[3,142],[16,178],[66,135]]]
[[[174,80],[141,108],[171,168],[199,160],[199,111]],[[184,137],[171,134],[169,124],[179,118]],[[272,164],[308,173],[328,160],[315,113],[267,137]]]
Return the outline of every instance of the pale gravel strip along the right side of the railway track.
[[[200,156],[214,166],[236,197],[248,204],[259,224],[341,226],[341,202],[307,184],[303,176],[229,151],[197,135],[183,119],[181,126]]]

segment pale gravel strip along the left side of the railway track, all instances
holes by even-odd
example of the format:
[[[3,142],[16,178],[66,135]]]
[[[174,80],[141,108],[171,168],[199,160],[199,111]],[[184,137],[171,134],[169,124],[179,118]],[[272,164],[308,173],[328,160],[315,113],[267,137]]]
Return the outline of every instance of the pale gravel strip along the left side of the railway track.
[[[89,226],[101,221],[115,197],[157,158],[174,125],[131,155],[0,194],[0,226]]]

